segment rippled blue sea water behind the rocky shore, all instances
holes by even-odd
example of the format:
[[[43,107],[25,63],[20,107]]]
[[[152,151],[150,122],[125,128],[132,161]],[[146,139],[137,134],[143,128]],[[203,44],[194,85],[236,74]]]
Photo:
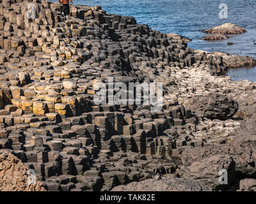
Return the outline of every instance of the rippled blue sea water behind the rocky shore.
[[[256,57],[256,1],[255,0],[73,0],[74,4],[100,5],[107,13],[133,16],[138,24],[148,24],[163,33],[177,33],[191,38],[188,46],[209,52]],[[220,19],[219,5],[227,4],[228,16]],[[246,33],[231,36],[227,40],[203,41],[202,30],[232,22],[246,29]],[[227,45],[232,41],[234,45]],[[256,68],[252,73],[256,73]],[[240,73],[240,74],[239,74]],[[236,70],[232,75],[236,76]],[[237,78],[246,78],[237,72]],[[250,80],[256,81],[255,77]]]

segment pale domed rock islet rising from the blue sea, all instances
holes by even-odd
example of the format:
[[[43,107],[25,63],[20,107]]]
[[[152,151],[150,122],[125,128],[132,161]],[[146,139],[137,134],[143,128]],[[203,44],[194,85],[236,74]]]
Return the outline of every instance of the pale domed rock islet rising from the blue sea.
[[[219,33],[219,34],[240,34],[245,33],[246,29],[238,25],[226,23],[211,29],[205,30],[204,33]]]

